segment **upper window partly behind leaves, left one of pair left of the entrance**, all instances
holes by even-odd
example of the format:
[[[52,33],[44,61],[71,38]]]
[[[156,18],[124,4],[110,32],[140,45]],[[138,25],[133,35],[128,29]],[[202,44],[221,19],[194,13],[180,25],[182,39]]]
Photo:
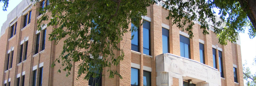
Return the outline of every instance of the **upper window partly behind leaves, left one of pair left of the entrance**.
[[[132,26],[135,31],[131,32],[133,39],[131,40],[131,50],[139,52],[139,29],[132,23]]]

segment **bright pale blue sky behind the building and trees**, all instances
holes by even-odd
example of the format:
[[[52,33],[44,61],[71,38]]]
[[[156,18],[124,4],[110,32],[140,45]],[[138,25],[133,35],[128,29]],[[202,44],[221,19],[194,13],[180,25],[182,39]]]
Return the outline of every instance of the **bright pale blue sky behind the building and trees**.
[[[2,10],[4,4],[2,2],[0,3],[0,30],[3,23],[6,21],[7,14],[10,13],[10,11],[12,11],[21,1],[22,0],[9,0],[9,7],[7,8],[7,11]],[[250,39],[247,33],[248,30],[245,30],[244,33],[239,34],[241,39],[242,63],[244,64],[245,61],[247,61],[248,65],[246,66],[250,67],[252,73],[256,73],[256,66],[251,65],[254,57],[256,57],[256,37]]]

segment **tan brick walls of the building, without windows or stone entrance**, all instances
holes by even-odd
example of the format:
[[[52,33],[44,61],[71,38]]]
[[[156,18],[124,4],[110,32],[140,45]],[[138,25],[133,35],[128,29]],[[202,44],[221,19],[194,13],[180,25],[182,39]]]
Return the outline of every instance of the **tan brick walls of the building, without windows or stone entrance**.
[[[26,2],[23,0],[21,4]],[[21,6],[19,4],[17,7]],[[31,3],[30,3],[31,4]],[[11,12],[15,13],[20,9],[17,7]],[[35,54],[35,44],[36,44],[36,36],[37,36],[37,21],[41,16],[38,16],[38,10],[32,10],[31,14],[31,22],[26,27],[23,28],[24,23],[24,14],[31,11],[31,9],[36,9],[39,6],[28,6],[23,7],[21,13],[17,13],[18,15],[8,15],[6,23],[8,23],[7,28],[2,27],[1,31],[1,39],[0,39],[0,85],[4,85],[5,80],[7,80],[7,85],[11,82],[11,86],[16,86],[17,83],[17,75],[20,74],[22,78],[23,73],[25,74],[25,86],[32,86],[33,82],[33,69],[37,70],[37,84],[39,82],[39,69],[40,65],[43,63],[43,86],[85,86],[88,85],[88,81],[83,80],[83,76],[77,78],[78,65],[80,62],[73,63],[74,67],[72,68],[71,75],[66,77],[66,72],[57,73],[60,64],[56,64],[54,68],[51,67],[52,62],[55,61],[56,58],[61,54],[61,50],[63,47],[63,40],[61,40],[57,45],[54,42],[49,41],[49,35],[46,35],[45,41],[45,49],[42,49],[42,38],[43,38],[43,30],[40,33],[40,44],[39,44],[39,53]],[[26,12],[26,13],[24,13]],[[124,60],[120,62],[119,66],[113,67],[117,69],[119,73],[122,75],[123,79],[119,79],[115,77],[113,79],[109,79],[107,73],[107,68],[103,69],[104,76],[102,76],[102,86],[130,86],[131,84],[131,67],[132,64],[138,64],[139,71],[139,84],[143,86],[143,70],[151,72],[151,85],[156,86],[156,56],[162,54],[162,25],[165,24],[169,27],[169,49],[170,53],[180,56],[180,42],[179,35],[180,29],[176,27],[176,25],[172,25],[172,20],[166,20],[168,16],[168,11],[164,10],[161,5],[151,5],[147,8],[147,18],[144,18],[146,21],[150,21],[150,40],[151,40],[151,56],[143,54],[143,26],[139,27],[139,51],[136,52],[131,50],[131,33],[128,32],[125,34],[123,41],[120,42],[119,47],[124,50]],[[15,18],[16,17],[16,18]],[[10,39],[11,26],[13,23],[17,22],[16,35],[14,35]],[[49,21],[46,21],[49,22]],[[3,25],[4,26],[4,25]],[[52,32],[52,28],[57,26],[49,26],[46,27],[46,34]],[[131,25],[129,25],[129,28]],[[204,41],[204,54],[205,54],[205,64],[213,67],[213,46],[218,46],[216,51],[222,50],[223,56],[223,69],[224,69],[224,78],[221,78],[222,86],[243,86],[243,74],[242,74],[242,57],[241,57],[241,48],[240,43],[231,43],[228,42],[226,46],[222,46],[218,43],[218,39],[216,38],[216,34],[213,31],[209,30],[209,35],[203,35],[202,30],[200,29],[200,24],[196,23],[193,26],[193,35],[194,37],[190,39],[190,54],[191,59],[200,62],[200,54],[199,54],[199,39]],[[187,32],[184,32],[187,33]],[[20,45],[22,40],[28,37],[28,51],[27,51],[27,59],[19,64],[20,57]],[[25,42],[23,43],[25,44]],[[12,68],[6,71],[6,62],[8,57],[8,50],[14,47],[13,53],[13,64]],[[12,51],[12,50],[11,50]],[[120,52],[116,52],[117,55]],[[12,53],[10,53],[12,55]],[[23,55],[24,56],[24,55]],[[217,53],[218,56],[218,53]],[[217,57],[217,69],[219,70],[219,59]],[[238,75],[238,83],[234,82],[233,76],[233,66],[236,65],[237,75]],[[149,69],[149,70],[148,70]],[[20,80],[22,82],[22,79]],[[179,86],[179,82],[181,82],[177,78],[173,78],[172,86]],[[185,81],[185,80],[183,80]]]

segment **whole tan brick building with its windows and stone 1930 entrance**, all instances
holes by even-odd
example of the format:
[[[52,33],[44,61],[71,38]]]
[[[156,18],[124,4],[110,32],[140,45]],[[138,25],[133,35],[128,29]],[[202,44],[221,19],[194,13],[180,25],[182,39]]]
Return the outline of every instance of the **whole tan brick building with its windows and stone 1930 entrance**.
[[[48,4],[46,0],[40,1]],[[138,27],[137,32],[126,34],[121,41],[119,46],[125,45],[122,47],[125,57],[116,69],[123,79],[109,79],[104,69],[101,85],[243,86],[240,40],[220,45],[213,30],[203,35],[197,22],[193,26],[194,37],[188,39],[187,32],[166,20],[168,10],[162,9],[161,4],[148,7],[143,26]],[[63,43],[55,45],[47,40],[52,26],[36,30],[41,14],[34,9],[42,6],[33,6],[30,0],[23,0],[8,14],[1,29],[0,85],[90,85],[90,80],[76,78],[79,62],[73,63],[75,66],[68,77],[66,72],[57,73],[60,64],[51,67]],[[132,40],[131,35],[134,35]]]

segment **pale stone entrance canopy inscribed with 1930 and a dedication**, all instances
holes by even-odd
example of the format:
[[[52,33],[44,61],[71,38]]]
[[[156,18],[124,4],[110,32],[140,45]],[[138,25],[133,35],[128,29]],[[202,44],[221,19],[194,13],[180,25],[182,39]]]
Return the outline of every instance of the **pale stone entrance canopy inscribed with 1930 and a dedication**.
[[[157,86],[183,86],[192,80],[196,86],[221,86],[220,72],[208,65],[173,54],[156,56]]]

